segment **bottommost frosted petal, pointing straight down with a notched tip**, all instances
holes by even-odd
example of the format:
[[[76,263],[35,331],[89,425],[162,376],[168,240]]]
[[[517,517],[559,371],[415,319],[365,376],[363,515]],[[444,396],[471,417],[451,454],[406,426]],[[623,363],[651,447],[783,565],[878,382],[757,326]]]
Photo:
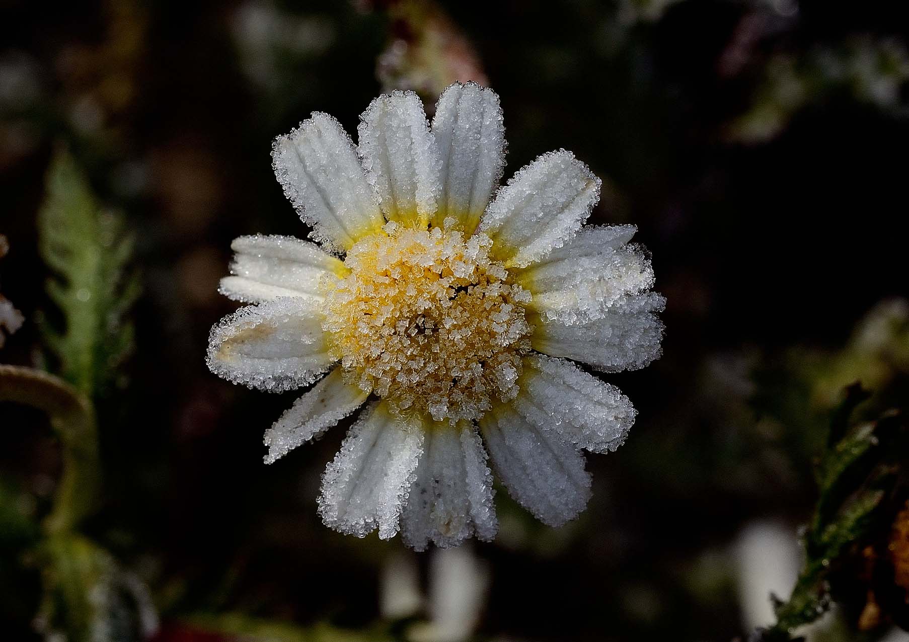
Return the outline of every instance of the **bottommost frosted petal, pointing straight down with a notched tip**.
[[[405,544],[425,550],[430,541],[448,548],[474,534],[494,538],[493,478],[476,429],[437,422],[426,431],[424,448],[401,518]]]

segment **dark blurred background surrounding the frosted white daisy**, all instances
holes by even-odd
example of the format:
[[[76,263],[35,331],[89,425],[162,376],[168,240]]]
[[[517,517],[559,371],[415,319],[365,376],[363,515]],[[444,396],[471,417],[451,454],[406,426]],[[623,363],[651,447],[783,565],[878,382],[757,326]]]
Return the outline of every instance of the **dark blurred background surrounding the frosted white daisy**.
[[[147,587],[157,639],[728,640],[769,624],[826,413],[842,386],[909,370],[893,334],[909,318],[894,299],[907,17],[884,1],[0,1],[0,291],[25,317],[0,361],[45,359],[35,212],[65,146],[136,238],[135,348],[97,400],[104,501],[85,530]],[[263,465],[295,397],[219,380],[205,343],[235,308],[217,294],[231,240],[306,232],[272,139],[314,110],[353,132],[385,90],[431,108],[468,79],[501,96],[506,176],[564,147],[603,177],[592,222],[637,225],[667,331],[660,361],[607,378],[640,414],[622,449],[588,457],[581,519],[546,528],[500,492],[493,543],[416,555],[320,523],[344,427]],[[0,477],[38,519],[52,432],[0,412]],[[37,639],[40,565],[4,556],[0,630]],[[841,619],[813,635],[890,635]]]

